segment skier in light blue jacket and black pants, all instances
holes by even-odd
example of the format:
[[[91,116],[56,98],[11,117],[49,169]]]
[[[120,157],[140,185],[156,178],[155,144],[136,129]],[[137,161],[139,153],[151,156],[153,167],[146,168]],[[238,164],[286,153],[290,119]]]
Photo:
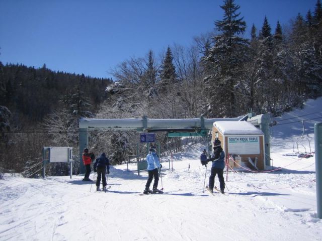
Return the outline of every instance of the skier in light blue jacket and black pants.
[[[152,146],[149,150],[149,154],[146,156],[147,162],[147,172],[148,178],[145,184],[145,190],[143,191],[144,194],[147,193],[162,193],[162,190],[157,189],[157,183],[159,181],[159,173],[158,168],[162,168],[162,165],[159,162],[159,158],[156,155],[156,148]],[[152,179],[154,177],[153,188],[152,191],[149,189]]]

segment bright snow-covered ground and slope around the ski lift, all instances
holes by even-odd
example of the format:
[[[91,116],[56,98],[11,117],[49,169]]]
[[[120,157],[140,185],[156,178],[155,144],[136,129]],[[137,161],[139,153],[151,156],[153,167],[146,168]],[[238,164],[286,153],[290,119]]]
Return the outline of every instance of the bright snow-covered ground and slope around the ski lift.
[[[200,165],[202,143],[174,155],[173,171],[163,163],[164,194],[139,195],[147,174],[126,165],[111,167],[107,193],[96,192],[83,176],[6,175],[0,180],[0,240],[322,240],[315,159],[292,156],[314,152],[313,124],[322,121],[321,111],[319,98],[275,118],[272,168],[282,169],[229,172],[225,195],[203,192],[210,168]],[[304,122],[303,132],[299,119],[313,120]]]

